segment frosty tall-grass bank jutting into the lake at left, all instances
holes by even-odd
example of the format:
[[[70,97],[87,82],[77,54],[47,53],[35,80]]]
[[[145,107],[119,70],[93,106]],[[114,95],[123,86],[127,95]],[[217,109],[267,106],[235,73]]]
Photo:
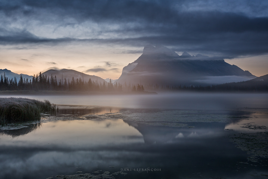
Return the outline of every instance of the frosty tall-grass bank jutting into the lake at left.
[[[48,100],[0,98],[0,124],[39,120],[42,112],[55,112],[56,108],[56,105]]]

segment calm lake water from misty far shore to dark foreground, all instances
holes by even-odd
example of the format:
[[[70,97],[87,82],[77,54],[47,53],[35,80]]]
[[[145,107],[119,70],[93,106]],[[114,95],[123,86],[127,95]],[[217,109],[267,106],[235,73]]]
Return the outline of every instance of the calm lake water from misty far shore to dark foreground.
[[[267,155],[248,160],[230,141],[268,131],[267,94],[25,97],[84,106],[0,129],[0,178],[98,170],[124,171],[115,178],[268,178]]]

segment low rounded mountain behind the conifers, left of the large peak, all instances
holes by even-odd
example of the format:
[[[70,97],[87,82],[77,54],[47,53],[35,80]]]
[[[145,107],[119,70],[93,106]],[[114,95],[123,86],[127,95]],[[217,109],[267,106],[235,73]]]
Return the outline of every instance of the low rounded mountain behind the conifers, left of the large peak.
[[[74,77],[74,79],[79,79],[81,78],[81,80],[84,80],[85,82],[88,82],[89,78],[91,78],[92,81],[96,81],[98,83],[103,83],[103,81],[105,81],[103,78],[95,76],[95,75],[88,75],[85,73],[81,73],[79,71],[76,70],[69,70],[69,69],[61,69],[61,70],[47,70],[44,73],[42,73],[42,75],[47,75],[47,77],[51,77],[51,75],[53,77],[57,77],[57,82],[59,83],[59,80],[61,80],[61,78],[64,81],[64,78],[66,78],[66,81],[68,83],[68,79],[69,81],[72,81],[72,78]],[[105,81],[105,84],[107,84],[107,82]]]

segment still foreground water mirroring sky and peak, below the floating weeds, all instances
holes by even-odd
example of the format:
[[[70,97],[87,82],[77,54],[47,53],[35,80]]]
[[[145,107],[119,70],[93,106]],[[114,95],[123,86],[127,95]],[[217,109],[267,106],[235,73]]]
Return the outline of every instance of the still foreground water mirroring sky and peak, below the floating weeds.
[[[181,178],[199,172],[211,175],[211,170],[225,176],[232,174],[237,161],[247,162],[245,153],[221,137],[224,124],[195,126],[148,126],[120,119],[43,123],[39,130],[17,138],[1,136],[0,178],[77,174],[76,167],[83,173],[123,167],[162,169],[132,172],[127,178]]]

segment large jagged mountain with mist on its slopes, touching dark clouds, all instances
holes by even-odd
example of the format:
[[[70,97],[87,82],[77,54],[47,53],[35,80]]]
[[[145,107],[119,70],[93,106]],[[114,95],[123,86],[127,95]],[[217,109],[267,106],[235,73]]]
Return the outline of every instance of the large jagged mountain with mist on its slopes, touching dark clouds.
[[[122,70],[117,83],[143,85],[209,85],[246,81],[256,76],[223,59],[187,52],[178,55],[165,46],[146,45],[143,54]]]

